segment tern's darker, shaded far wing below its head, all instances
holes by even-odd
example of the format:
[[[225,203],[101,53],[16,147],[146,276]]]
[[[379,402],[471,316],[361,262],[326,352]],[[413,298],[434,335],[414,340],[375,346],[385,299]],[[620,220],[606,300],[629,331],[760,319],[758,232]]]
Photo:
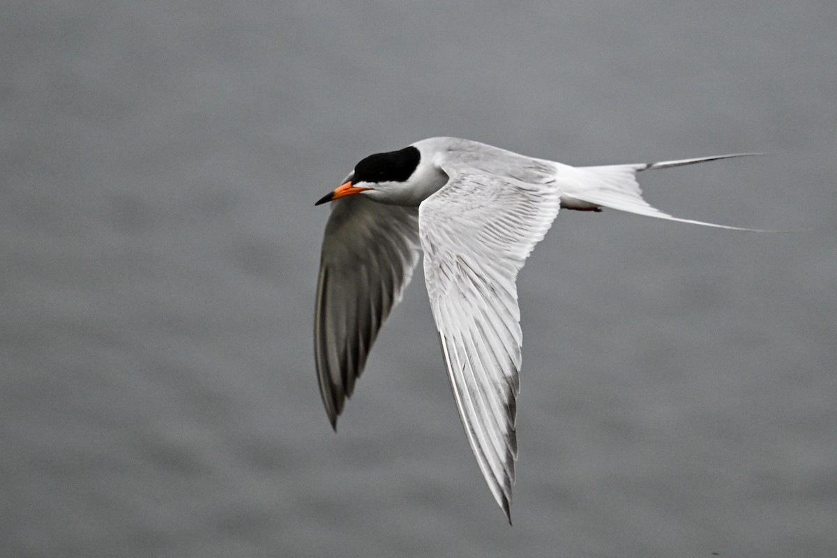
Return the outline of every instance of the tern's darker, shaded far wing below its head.
[[[363,196],[332,203],[316,289],[314,353],[331,426],[419,261],[419,211]]]

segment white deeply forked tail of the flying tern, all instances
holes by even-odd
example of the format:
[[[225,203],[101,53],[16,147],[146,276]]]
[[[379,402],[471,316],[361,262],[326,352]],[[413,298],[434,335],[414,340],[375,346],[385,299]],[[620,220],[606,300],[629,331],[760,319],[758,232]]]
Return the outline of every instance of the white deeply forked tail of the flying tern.
[[[761,155],[760,153],[736,153],[732,155],[719,155],[710,157],[699,157],[696,159],[681,159],[679,161],[660,161],[656,163],[638,163],[633,165],[607,165],[607,166],[559,166],[556,182],[562,191],[562,196],[572,197],[583,202],[594,205],[619,209],[619,211],[637,213],[647,217],[679,221],[680,223],[692,223],[706,227],[730,228],[739,231],[765,232],[757,228],[731,227],[729,225],[718,225],[705,223],[693,219],[673,217],[668,213],[661,212],[650,205],[642,197],[642,190],[636,181],[636,173],[639,171],[650,171],[655,169],[671,168],[674,166],[694,165],[706,161],[718,161],[732,157]]]

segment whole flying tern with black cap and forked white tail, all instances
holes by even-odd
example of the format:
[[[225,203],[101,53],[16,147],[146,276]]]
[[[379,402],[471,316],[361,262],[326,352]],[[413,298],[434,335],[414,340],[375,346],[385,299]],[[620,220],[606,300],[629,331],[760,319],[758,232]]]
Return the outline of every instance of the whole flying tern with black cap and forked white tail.
[[[485,482],[511,523],[520,309],[516,278],[559,208],[610,207],[675,218],[652,207],[641,171],[731,157],[569,166],[477,141],[434,137],[358,162],[332,202],[314,318],[316,371],[331,426],[352,395],[378,330],[424,253],[424,280],[444,366]]]

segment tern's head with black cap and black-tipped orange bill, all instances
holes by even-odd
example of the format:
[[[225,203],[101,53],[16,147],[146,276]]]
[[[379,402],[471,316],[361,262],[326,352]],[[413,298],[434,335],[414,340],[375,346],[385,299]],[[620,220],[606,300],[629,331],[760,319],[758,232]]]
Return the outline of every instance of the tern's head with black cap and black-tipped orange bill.
[[[446,181],[447,176],[429,157],[418,147],[408,146],[362,159],[340,187],[315,205],[362,194],[376,202],[418,206]]]

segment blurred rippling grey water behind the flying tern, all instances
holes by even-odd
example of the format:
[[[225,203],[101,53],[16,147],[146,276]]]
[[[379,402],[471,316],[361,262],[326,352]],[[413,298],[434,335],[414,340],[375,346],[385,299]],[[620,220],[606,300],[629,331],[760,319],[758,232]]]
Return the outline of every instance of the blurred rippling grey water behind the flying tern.
[[[837,555],[837,5],[12,2],[0,555]],[[521,272],[506,524],[418,272],[331,431],[355,162],[462,136],[641,175]]]

